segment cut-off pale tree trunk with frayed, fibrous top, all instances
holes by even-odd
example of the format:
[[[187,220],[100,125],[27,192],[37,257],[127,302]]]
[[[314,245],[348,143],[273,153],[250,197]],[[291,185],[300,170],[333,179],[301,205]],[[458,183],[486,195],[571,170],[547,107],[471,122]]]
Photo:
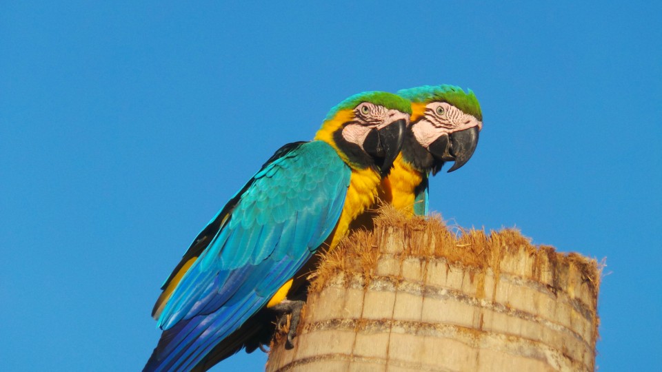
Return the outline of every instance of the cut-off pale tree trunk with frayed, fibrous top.
[[[600,268],[392,210],[327,254],[267,371],[593,371]]]

